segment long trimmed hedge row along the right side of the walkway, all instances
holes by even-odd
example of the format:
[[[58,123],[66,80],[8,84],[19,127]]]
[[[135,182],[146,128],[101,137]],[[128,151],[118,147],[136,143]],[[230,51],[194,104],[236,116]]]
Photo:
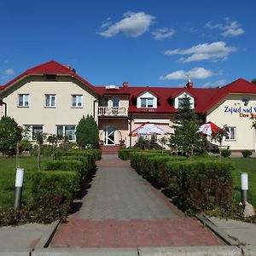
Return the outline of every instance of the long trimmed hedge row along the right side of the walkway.
[[[153,177],[170,189],[177,203],[188,212],[225,208],[231,203],[230,163],[133,152],[131,166],[143,177]]]

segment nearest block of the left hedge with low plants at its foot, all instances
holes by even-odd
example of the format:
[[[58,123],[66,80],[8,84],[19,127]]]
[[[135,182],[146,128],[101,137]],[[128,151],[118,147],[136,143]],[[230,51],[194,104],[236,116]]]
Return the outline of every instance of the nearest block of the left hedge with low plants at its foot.
[[[49,224],[65,220],[74,195],[79,191],[78,172],[35,171],[32,174],[32,199],[20,209],[0,211],[0,226],[26,223]]]

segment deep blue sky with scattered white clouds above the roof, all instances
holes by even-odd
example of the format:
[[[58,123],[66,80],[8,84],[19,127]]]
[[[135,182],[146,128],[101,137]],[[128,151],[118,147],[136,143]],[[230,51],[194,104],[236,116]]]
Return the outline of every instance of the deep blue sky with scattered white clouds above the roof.
[[[0,0],[0,84],[55,60],[94,85],[256,77],[255,0]]]

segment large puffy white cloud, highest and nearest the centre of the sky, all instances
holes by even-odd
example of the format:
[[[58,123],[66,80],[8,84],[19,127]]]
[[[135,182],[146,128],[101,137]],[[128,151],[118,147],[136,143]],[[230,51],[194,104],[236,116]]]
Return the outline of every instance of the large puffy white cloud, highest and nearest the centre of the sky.
[[[102,24],[103,28],[108,27],[105,31],[99,32],[104,38],[112,38],[119,32],[123,32],[127,37],[137,38],[144,32],[148,31],[148,27],[153,23],[155,19],[152,15],[147,15],[144,12],[127,12],[122,20],[110,23],[110,20],[106,20]]]

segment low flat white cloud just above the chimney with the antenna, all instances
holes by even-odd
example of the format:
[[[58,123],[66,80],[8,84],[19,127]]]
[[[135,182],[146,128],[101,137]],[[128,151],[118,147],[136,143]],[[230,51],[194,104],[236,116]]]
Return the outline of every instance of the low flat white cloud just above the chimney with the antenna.
[[[160,80],[181,80],[188,78],[188,75],[189,79],[207,79],[212,77],[214,73],[204,67],[194,67],[189,71],[177,70],[165,76],[160,76]]]

